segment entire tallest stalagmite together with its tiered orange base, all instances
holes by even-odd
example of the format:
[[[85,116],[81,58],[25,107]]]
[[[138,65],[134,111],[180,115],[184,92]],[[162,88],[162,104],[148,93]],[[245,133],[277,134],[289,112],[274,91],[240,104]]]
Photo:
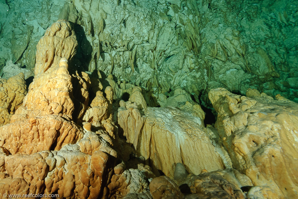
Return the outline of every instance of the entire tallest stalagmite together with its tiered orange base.
[[[49,27],[38,43],[35,79],[23,106],[0,129],[2,194],[107,195],[101,187],[113,173],[117,153],[106,131],[83,130],[74,123],[86,109],[90,84],[86,73],[68,71],[67,59],[75,53],[75,45],[72,27],[64,20]],[[24,74],[19,76],[24,79]],[[11,107],[18,105],[15,99]]]

